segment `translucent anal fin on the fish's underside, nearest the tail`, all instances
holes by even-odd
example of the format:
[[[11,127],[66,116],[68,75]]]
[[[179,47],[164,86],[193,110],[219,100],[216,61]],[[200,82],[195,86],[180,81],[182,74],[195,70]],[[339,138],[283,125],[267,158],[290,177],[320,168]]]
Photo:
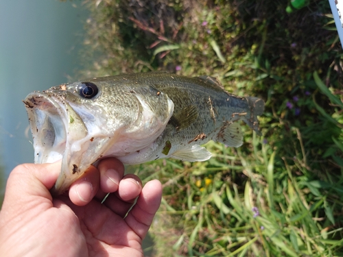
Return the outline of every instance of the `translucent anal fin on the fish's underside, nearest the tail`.
[[[217,140],[228,147],[240,147],[243,144],[243,134],[239,123],[227,123],[218,133]]]

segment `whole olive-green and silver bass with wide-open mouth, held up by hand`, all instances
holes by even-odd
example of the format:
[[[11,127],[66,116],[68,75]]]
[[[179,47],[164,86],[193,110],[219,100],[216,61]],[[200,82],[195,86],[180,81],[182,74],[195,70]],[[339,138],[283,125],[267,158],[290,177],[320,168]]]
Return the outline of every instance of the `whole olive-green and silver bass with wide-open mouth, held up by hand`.
[[[51,189],[60,195],[96,164],[113,156],[123,164],[161,158],[204,161],[202,145],[215,140],[239,147],[239,120],[258,134],[264,101],[224,90],[211,76],[165,72],[93,77],[34,91],[23,100],[34,162],[62,160]]]

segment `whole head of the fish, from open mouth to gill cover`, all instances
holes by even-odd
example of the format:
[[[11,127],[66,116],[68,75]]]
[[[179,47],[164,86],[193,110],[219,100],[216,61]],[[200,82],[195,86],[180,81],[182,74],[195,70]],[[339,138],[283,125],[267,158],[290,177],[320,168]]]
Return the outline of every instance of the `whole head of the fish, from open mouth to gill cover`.
[[[34,141],[34,162],[62,160],[51,192],[66,191],[116,144],[126,150],[130,148],[126,145],[134,145],[129,149],[134,151],[154,140],[147,134],[155,138],[161,134],[173,112],[172,101],[165,97],[165,111],[156,114],[145,94],[110,85],[108,79],[86,79],[27,95],[23,102]]]

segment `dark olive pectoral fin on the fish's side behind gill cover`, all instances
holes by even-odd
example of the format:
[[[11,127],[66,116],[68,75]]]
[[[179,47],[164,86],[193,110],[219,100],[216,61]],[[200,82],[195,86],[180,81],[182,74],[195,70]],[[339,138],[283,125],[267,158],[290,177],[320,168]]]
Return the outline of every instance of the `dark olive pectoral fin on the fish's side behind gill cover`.
[[[186,106],[171,116],[169,123],[176,127],[176,131],[185,130],[198,118],[196,106]]]

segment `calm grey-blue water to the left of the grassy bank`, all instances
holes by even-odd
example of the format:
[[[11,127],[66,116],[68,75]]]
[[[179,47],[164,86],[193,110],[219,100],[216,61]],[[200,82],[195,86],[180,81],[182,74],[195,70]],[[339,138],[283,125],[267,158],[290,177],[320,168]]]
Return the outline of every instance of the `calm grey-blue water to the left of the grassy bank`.
[[[67,82],[80,69],[82,23],[88,12],[73,5],[57,0],[0,1],[0,160],[6,175],[34,160],[22,100],[33,90]]]

